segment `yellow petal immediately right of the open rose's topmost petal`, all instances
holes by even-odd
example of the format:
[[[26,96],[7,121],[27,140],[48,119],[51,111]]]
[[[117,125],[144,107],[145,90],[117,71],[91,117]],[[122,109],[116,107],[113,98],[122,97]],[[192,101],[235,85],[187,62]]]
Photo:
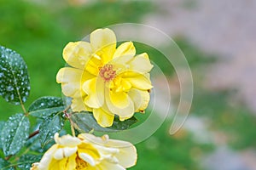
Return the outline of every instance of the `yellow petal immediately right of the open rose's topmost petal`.
[[[113,54],[113,59],[119,58],[120,56],[134,56],[136,54],[136,49],[132,42],[124,42],[116,49]]]

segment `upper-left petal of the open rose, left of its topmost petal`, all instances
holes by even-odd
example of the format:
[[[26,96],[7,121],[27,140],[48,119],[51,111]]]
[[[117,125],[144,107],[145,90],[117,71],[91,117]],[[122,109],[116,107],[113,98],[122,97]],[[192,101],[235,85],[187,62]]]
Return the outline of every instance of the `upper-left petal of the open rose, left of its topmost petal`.
[[[90,59],[92,50],[89,42],[69,42],[63,49],[63,58],[68,65],[84,69],[84,65]]]

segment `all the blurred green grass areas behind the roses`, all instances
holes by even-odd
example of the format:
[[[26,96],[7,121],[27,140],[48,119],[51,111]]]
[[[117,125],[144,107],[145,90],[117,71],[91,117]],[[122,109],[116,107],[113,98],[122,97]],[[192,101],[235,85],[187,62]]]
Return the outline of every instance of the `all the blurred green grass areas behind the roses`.
[[[145,15],[160,12],[149,1],[0,0],[0,44],[21,54],[28,66],[32,90],[26,107],[41,96],[61,96],[61,86],[55,82],[55,75],[65,65],[61,53],[67,42],[79,41],[99,27],[123,22],[141,23]],[[200,74],[201,67],[212,65],[216,58],[201,52],[181,35],[175,40],[187,57],[193,74],[200,75],[194,76],[195,98],[190,116],[196,120],[207,119],[203,130],[212,138],[218,133],[230,150],[237,153],[255,150],[256,119],[251,111],[245,106],[229,103],[230,94],[234,91],[216,92],[201,85],[204,78]],[[152,48],[143,47],[142,51],[147,51],[153,60],[161,55]],[[167,73],[173,71],[165,60],[160,66]],[[172,82],[172,74],[168,78]],[[9,105],[0,99],[0,120],[7,120],[16,112],[22,112],[20,106]],[[137,144],[137,166],[131,169],[212,169],[205,166],[207,161],[204,158],[211,156],[222,143],[196,138],[201,131],[193,131],[194,127],[192,130],[186,127],[170,135],[171,123],[172,119],[166,120],[152,137]],[[192,125],[197,127],[198,123]]]

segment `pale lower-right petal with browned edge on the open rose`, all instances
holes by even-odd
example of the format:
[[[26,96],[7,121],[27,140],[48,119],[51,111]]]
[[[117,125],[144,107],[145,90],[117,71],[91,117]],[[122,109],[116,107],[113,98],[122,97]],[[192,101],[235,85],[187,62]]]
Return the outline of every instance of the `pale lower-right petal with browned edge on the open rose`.
[[[148,91],[131,88],[131,90],[128,92],[128,95],[134,102],[134,108],[136,112],[144,111],[148,107],[148,102],[150,98]]]

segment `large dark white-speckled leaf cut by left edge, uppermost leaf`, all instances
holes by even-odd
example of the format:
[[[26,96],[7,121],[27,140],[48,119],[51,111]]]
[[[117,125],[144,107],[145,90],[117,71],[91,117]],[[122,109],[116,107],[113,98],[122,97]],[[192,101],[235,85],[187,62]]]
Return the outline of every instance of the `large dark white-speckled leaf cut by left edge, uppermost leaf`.
[[[15,51],[0,46],[0,96],[14,105],[24,103],[30,92],[25,61]]]

